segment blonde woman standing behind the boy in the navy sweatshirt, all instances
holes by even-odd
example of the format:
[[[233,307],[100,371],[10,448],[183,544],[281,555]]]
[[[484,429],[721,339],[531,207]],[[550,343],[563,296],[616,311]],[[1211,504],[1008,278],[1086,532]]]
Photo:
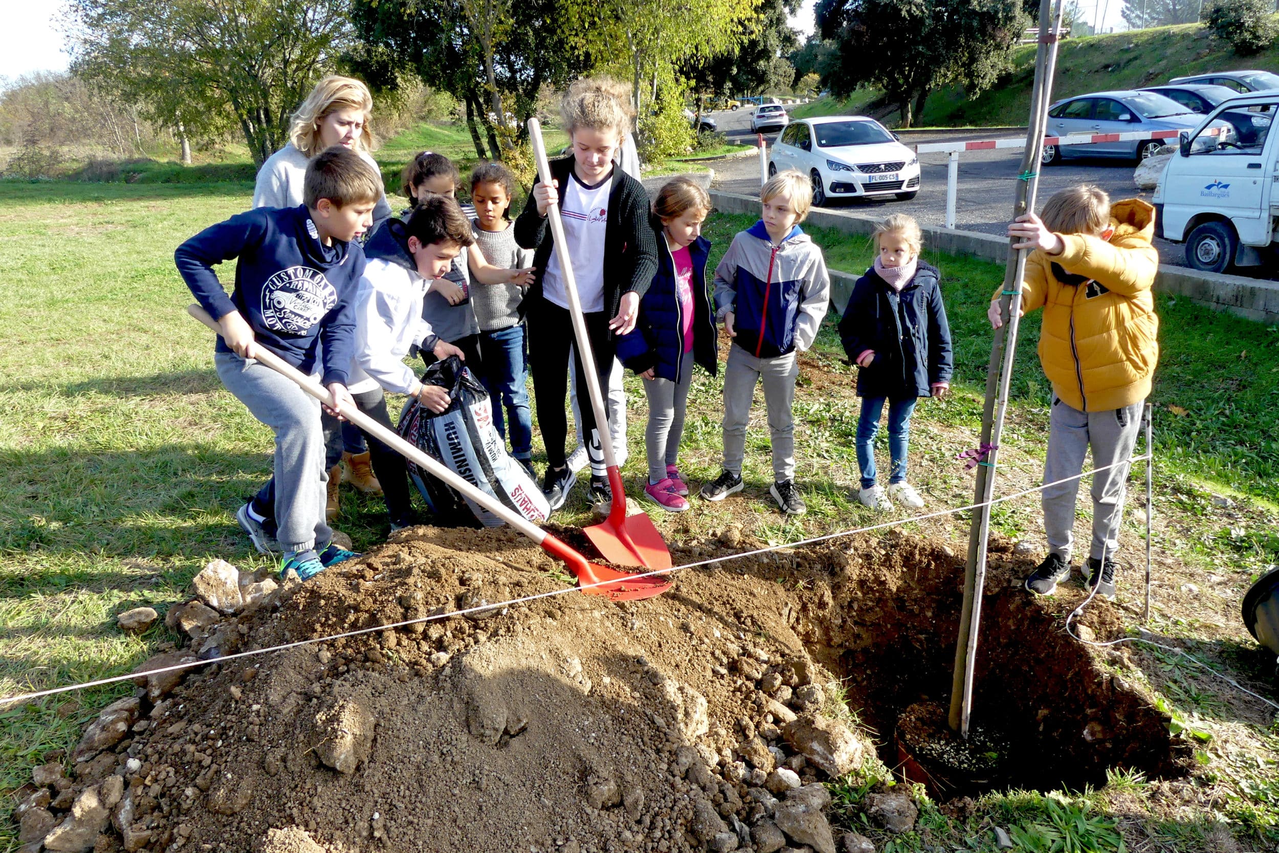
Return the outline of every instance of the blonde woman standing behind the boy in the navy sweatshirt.
[[[334,146],[350,148],[381,171],[368,151],[376,142],[368,127],[373,110],[373,97],[368,87],[350,77],[336,74],[325,77],[311,90],[311,95],[293,114],[289,145],[271,155],[257,171],[253,187],[253,207],[297,207],[302,203],[302,182],[307,164],[322,151]],[[384,192],[373,207],[372,234],[391,215],[391,206]],[[371,495],[381,495],[382,487],[373,476],[368,445],[363,435],[350,423],[339,422],[325,414],[325,442],[329,471],[329,496],[326,515],[333,520],[340,509],[338,483],[349,482]],[[340,462],[340,464],[339,464]]]

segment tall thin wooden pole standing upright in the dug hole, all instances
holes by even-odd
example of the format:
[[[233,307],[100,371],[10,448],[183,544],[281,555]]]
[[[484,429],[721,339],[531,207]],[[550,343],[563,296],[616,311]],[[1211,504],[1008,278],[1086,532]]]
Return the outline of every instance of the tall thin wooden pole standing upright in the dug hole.
[[[1053,102],[1053,73],[1056,70],[1058,33],[1062,31],[1063,0],[1058,0],[1054,20],[1049,20],[1053,0],[1040,0],[1039,50],[1035,54],[1035,86],[1031,90],[1030,127],[1022,171],[1017,175],[1017,201],[1013,219],[1035,210],[1039,189],[1040,156],[1048,127],[1048,107]],[[986,586],[986,545],[990,536],[990,500],[995,494],[995,469],[999,464],[999,440],[1008,411],[1008,389],[1013,377],[1017,350],[1017,329],[1022,316],[1022,280],[1026,275],[1028,249],[1014,249],[1018,238],[1008,239],[1008,266],[1004,289],[999,297],[999,313],[1004,325],[995,329],[986,372],[986,404],[981,416],[981,446],[990,448],[985,464],[976,466],[975,504],[982,504],[972,519],[968,535],[968,561],[963,578],[963,610],[959,615],[959,638],[955,643],[954,684],[950,692],[952,732],[968,737],[972,714],[972,680],[977,662],[977,632],[981,624],[981,596]]]

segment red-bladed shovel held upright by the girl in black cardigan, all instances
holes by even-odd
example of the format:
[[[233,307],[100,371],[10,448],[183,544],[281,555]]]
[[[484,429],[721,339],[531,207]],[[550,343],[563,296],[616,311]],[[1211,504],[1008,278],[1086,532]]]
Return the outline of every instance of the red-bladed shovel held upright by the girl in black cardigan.
[[[551,168],[546,162],[546,147],[542,145],[542,127],[537,119],[528,119],[528,138],[533,143],[533,156],[537,159],[537,174],[544,184],[551,183]],[[568,240],[564,239],[564,221],[560,219],[559,205],[547,206],[551,238],[560,258],[560,275],[564,276],[564,293],[568,294],[569,316],[573,317],[573,335],[577,338],[577,354],[586,370],[586,387],[591,395],[591,409],[595,412],[596,431],[600,435],[600,449],[604,451],[604,464],[609,469],[609,489],[613,491],[613,506],[609,517],[601,524],[587,527],[586,535],[591,544],[609,563],[618,565],[642,565],[646,569],[669,569],[670,551],[661,533],[654,527],[646,513],[627,515],[627,495],[622,490],[622,474],[618,460],[613,455],[609,416],[604,408],[604,395],[600,393],[600,379],[595,372],[595,353],[586,334],[586,321],[582,318],[582,301],[577,295],[577,279],[568,254]],[[590,436],[585,436],[590,440]]]

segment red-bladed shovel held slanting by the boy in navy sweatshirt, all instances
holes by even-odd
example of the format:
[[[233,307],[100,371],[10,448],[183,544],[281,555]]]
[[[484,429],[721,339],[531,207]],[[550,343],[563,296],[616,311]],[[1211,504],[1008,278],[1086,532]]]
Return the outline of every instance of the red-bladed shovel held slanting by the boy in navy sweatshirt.
[[[221,327],[217,325],[217,321],[210,317],[208,312],[200,306],[191,306],[187,308],[187,312],[217,334],[221,334]],[[325,405],[331,403],[329,389],[320,385],[318,380],[306,376],[297,367],[293,367],[265,347],[255,347],[255,359],[286,379],[293,380],[303,391],[316,398]],[[501,501],[495,500],[494,497],[480,491],[467,482],[466,478],[453,473],[446,467],[402,439],[394,430],[388,430],[381,423],[357,409],[347,409],[343,411],[341,414],[361,430],[379,439],[388,448],[391,448],[404,458],[411,459],[416,466],[428,472],[431,476],[437,477],[453,486],[466,497],[480,504],[490,513],[537,542],[542,546],[542,550],[551,556],[564,560],[564,564],[568,565],[568,570],[577,577],[577,584],[579,587],[585,587],[582,592],[608,596],[614,601],[634,601],[637,599],[651,599],[652,596],[661,595],[670,588],[670,581],[664,577],[636,578],[625,572],[618,572],[595,563],[587,563],[585,556],[570,549],[568,545],[537,527],[519,513],[508,509],[501,504]],[[666,560],[666,565],[664,568],[670,568],[670,560]]]

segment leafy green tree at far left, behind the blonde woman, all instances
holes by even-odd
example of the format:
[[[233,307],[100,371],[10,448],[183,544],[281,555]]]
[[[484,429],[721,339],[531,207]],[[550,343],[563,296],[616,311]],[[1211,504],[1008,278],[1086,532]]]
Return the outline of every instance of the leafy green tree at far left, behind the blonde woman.
[[[70,0],[64,31],[73,69],[174,127],[229,110],[261,165],[340,55],[345,12],[344,0]]]

